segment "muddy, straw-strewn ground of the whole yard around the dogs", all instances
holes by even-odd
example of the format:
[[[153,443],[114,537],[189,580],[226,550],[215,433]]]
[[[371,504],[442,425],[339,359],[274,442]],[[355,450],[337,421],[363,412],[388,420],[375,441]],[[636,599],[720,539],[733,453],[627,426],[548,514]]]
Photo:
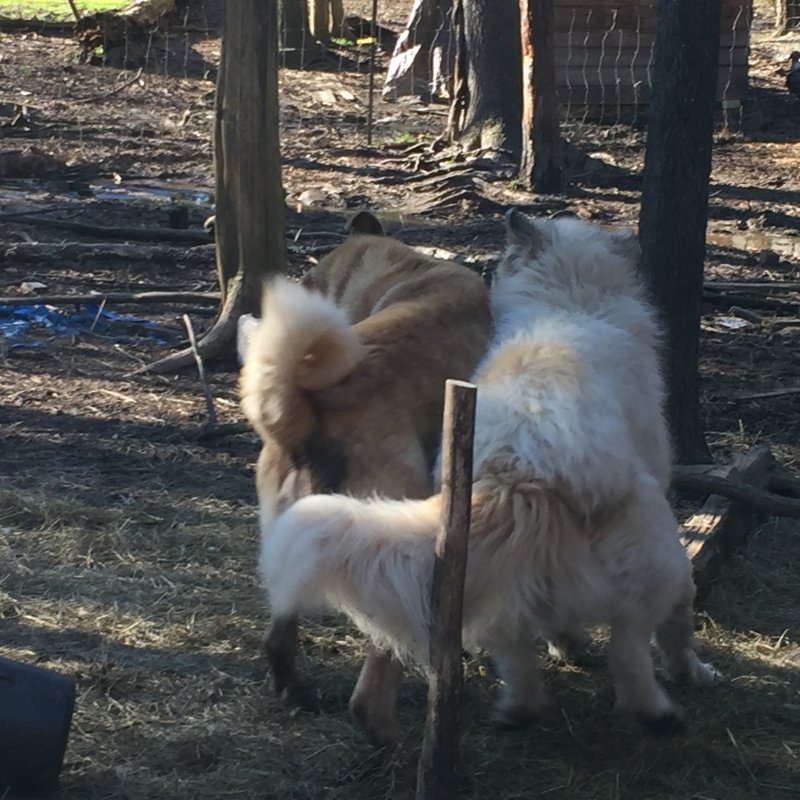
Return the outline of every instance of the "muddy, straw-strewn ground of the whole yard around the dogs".
[[[347,5],[364,16],[371,6]],[[149,43],[141,68],[126,70],[77,63],[67,35],[0,34],[0,294],[23,296],[25,283],[43,285],[27,287],[32,301],[36,293],[215,290],[202,222],[212,211],[217,6],[209,0],[177,20],[168,38]],[[408,3],[380,6],[381,23],[398,30]],[[759,6],[743,128],[716,135],[709,222],[709,281],[785,285],[760,294],[728,287],[733,296],[721,299],[710,288],[701,353],[715,456],[768,443],[795,471],[800,100],[780,70],[798,44],[775,37]],[[368,147],[365,60],[341,53],[282,71],[293,269],[335,244],[347,210],[363,204],[403,241],[479,267],[497,254],[500,211],[511,204],[635,223],[641,125],[565,125],[576,152],[592,157],[573,164],[561,195],[523,192],[499,154],[488,166],[464,165],[443,191],[417,178],[441,165],[427,145],[446,108],[379,101]],[[448,191],[460,192],[453,204]],[[188,228],[174,228],[171,241],[126,244],[52,220]],[[302,666],[322,712],[296,713],[269,693],[255,576],[257,441],[203,437],[193,371],[132,374],[182,343],[183,313],[198,331],[210,324],[213,298],[58,307],[81,309],[91,324],[0,336],[0,654],[78,678],[57,797],[413,796],[422,681],[402,690],[405,738],[391,754],[373,751],[347,719],[362,642],[338,618],[303,634]],[[241,421],[235,382],[230,364],[212,365],[222,422]],[[465,796],[796,797],[799,533],[795,523],[765,522],[699,608],[701,643],[727,680],[679,693],[689,714],[684,738],[642,738],[611,717],[601,642],[579,667],[547,665],[552,713],[513,734],[488,725],[495,681],[486,662],[470,659]]]

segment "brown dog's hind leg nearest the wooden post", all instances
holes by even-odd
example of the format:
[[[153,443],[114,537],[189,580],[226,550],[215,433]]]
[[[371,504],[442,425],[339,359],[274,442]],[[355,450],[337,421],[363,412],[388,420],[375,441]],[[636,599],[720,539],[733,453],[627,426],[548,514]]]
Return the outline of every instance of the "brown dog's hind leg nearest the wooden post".
[[[368,646],[350,713],[376,747],[390,747],[400,739],[396,706],[402,674],[402,665],[391,653]]]

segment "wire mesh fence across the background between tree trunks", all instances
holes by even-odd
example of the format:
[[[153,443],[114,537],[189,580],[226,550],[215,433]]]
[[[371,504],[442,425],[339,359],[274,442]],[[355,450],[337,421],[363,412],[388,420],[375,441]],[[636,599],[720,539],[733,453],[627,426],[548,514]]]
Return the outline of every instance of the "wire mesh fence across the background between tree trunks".
[[[795,0],[783,2],[787,13],[798,7]],[[208,182],[223,3],[178,0],[174,5],[158,20],[115,13],[85,14],[76,22],[67,3],[60,19],[20,22],[16,30],[3,20],[9,34],[0,41],[5,135],[60,140],[64,147],[56,150],[79,150],[84,139],[99,136],[98,118],[105,109],[124,106],[122,118],[108,114],[105,131],[108,149],[121,153],[124,166],[135,161],[137,151],[139,171],[155,170],[148,162],[148,142],[164,134],[167,140],[198,145]],[[443,133],[456,48],[451,0],[297,4],[303,5],[300,18],[284,17],[281,32],[281,122],[287,136],[385,144]],[[587,125],[637,126],[646,119],[655,15],[652,0],[556,0],[562,130],[574,143],[580,144]],[[727,127],[742,119],[751,21],[752,0],[725,0],[717,101]],[[36,38],[38,49],[32,46]],[[59,53],[60,74],[37,62],[42,48]],[[31,63],[24,64],[26,59]],[[87,70],[90,65],[94,73]],[[139,113],[154,93],[163,98],[163,112],[155,119]],[[57,105],[39,113],[37,98],[43,94]],[[179,164],[167,167],[161,171],[181,172]]]

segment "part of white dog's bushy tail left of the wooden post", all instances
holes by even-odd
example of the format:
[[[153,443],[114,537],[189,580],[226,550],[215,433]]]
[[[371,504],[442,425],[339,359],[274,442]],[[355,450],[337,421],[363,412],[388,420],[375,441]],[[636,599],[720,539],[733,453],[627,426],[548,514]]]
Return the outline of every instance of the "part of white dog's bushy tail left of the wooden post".
[[[260,571],[273,616],[335,609],[379,647],[425,663],[440,507],[439,496],[311,495],[277,518],[262,515]]]

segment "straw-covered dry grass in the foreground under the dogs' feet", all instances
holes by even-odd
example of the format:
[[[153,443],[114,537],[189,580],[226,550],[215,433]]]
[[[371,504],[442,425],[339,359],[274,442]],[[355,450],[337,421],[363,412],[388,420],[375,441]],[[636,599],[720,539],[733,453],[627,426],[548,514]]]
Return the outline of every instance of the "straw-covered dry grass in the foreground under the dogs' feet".
[[[304,633],[323,712],[291,712],[265,683],[252,510],[207,498],[154,510],[87,507],[43,485],[0,493],[0,650],[79,681],[59,796],[411,797],[422,682],[401,693],[402,749],[374,752],[345,713],[361,643],[328,619]],[[796,796],[797,533],[763,527],[708,599],[700,638],[728,680],[680,693],[683,738],[644,738],[610,715],[601,640],[582,667],[548,666],[552,712],[520,733],[487,725],[494,681],[471,660],[465,796]]]

